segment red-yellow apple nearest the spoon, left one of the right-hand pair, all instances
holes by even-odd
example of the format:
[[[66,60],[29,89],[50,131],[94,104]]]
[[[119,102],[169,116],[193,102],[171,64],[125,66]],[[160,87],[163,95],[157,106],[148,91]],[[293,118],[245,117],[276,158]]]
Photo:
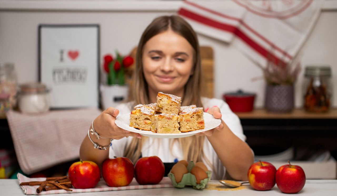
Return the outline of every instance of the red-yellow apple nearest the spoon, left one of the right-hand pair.
[[[253,163],[248,169],[248,181],[258,191],[267,191],[275,186],[276,168],[273,164],[261,161]]]

